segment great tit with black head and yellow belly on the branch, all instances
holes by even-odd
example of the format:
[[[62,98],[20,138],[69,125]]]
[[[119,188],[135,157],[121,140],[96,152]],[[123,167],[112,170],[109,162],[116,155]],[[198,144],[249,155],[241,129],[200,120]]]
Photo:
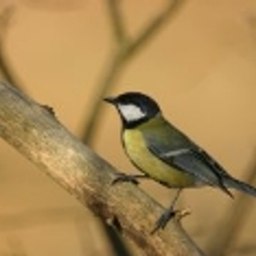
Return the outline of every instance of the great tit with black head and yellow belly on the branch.
[[[151,97],[128,92],[104,100],[118,110],[124,150],[143,173],[120,174],[114,183],[152,178],[169,188],[178,188],[177,196],[158,219],[153,232],[163,229],[174,216],[173,206],[182,188],[209,185],[220,188],[230,197],[229,188],[236,188],[256,197],[256,188],[231,177],[207,152],[169,123]]]

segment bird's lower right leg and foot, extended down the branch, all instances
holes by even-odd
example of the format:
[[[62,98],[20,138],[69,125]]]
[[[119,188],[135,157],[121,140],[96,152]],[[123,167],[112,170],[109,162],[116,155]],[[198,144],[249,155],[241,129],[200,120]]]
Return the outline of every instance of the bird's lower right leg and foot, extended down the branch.
[[[164,229],[166,224],[168,223],[168,221],[170,219],[172,219],[173,217],[175,217],[177,211],[174,210],[174,206],[180,196],[182,188],[179,188],[177,190],[177,193],[174,197],[174,199],[172,200],[172,203],[170,204],[170,207],[167,208],[163,214],[160,216],[160,218],[157,220],[154,229],[151,231],[151,234],[154,234],[159,228]]]

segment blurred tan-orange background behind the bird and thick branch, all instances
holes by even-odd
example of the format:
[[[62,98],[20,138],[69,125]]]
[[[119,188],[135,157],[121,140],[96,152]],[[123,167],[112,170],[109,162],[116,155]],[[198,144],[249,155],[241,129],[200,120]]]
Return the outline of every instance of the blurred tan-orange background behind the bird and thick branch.
[[[123,153],[119,117],[98,103],[103,95],[147,93],[230,174],[253,183],[256,2],[168,3],[1,0],[0,77],[52,106],[73,134],[131,173],[137,170]],[[123,42],[138,38],[134,52],[118,57]],[[5,141],[0,155],[0,256],[117,254],[99,220],[74,197]],[[164,206],[172,198],[154,182],[141,187]],[[256,253],[256,200],[234,195],[188,189],[180,200],[191,212],[182,225],[211,255]]]

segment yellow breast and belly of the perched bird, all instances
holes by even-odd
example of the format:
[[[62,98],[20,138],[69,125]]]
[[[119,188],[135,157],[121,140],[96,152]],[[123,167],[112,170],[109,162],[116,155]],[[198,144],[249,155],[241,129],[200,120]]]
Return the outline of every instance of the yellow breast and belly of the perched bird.
[[[138,129],[123,132],[123,144],[126,154],[145,174],[168,187],[194,186],[193,176],[183,173],[155,157],[145,145],[142,133]]]

